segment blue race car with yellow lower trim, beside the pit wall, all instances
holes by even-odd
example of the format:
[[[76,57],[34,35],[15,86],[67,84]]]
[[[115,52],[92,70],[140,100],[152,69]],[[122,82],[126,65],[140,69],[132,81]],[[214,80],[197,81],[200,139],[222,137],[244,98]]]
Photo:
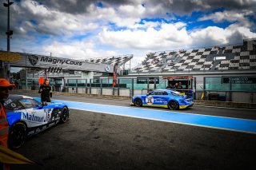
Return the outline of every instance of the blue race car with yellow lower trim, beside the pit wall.
[[[131,105],[152,106],[169,109],[186,109],[194,105],[192,97],[169,89],[156,89],[146,95],[132,97]]]

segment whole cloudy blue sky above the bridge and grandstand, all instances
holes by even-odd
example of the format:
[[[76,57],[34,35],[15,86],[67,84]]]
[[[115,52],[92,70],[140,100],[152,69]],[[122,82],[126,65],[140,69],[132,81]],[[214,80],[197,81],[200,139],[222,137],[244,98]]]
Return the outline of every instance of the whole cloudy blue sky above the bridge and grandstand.
[[[7,9],[0,0],[0,49]],[[86,59],[256,38],[256,0],[21,0],[10,6],[11,51]]]

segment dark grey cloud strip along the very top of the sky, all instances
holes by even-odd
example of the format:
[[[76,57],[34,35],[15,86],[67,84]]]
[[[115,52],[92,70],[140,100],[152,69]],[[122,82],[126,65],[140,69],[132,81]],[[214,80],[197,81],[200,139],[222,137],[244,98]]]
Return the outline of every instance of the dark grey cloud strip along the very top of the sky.
[[[44,1],[38,0],[39,3],[45,6],[50,6],[51,9],[60,10],[69,14],[86,14],[88,12],[88,6],[98,2],[94,0],[54,0]],[[126,11],[136,8],[136,6],[146,6],[146,12],[149,14],[190,14],[195,10],[214,10],[222,6],[225,9],[230,10],[255,10],[256,1],[254,0],[102,0],[99,1],[106,6],[120,7],[125,6]],[[130,9],[128,9],[130,6]],[[132,13],[130,13],[132,14]]]

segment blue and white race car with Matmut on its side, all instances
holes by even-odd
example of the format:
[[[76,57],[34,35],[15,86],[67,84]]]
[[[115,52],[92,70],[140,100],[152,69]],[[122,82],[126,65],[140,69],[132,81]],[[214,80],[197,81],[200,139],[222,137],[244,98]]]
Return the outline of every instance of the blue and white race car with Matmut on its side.
[[[62,103],[42,105],[32,97],[10,95],[4,102],[10,125],[8,146],[20,148],[26,137],[42,132],[58,122],[66,123],[69,109]]]

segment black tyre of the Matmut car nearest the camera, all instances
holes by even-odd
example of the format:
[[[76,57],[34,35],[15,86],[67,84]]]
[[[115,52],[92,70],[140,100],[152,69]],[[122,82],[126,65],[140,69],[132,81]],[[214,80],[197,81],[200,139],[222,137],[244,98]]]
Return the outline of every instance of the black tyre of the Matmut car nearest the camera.
[[[8,146],[12,149],[21,148],[26,140],[27,128],[26,124],[22,121],[18,121],[11,126],[9,137],[8,137]]]

